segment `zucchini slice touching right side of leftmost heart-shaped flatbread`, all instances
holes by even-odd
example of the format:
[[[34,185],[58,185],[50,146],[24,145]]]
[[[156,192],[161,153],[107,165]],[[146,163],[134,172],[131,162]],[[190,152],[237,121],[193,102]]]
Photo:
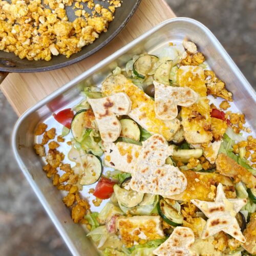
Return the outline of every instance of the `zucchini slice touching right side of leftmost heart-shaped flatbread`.
[[[120,137],[130,138],[132,140],[140,140],[140,129],[138,124],[132,119],[121,119]]]

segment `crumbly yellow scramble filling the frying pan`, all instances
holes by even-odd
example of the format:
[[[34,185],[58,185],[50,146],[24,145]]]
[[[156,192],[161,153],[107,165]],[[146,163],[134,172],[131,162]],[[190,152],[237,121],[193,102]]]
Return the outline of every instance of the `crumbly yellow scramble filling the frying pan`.
[[[65,7],[73,3],[77,18],[70,22]],[[87,3],[91,14],[81,3]],[[109,1],[108,9],[93,0],[1,1],[0,50],[28,60],[49,61],[59,54],[69,58],[108,30],[120,6],[120,0]]]

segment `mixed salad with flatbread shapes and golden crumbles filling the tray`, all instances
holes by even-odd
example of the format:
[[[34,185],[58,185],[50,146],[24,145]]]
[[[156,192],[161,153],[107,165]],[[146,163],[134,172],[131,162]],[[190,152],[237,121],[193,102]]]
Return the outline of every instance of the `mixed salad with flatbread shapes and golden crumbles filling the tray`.
[[[103,255],[256,254],[256,140],[194,42],[81,95],[54,114],[62,134],[38,124],[35,151]]]

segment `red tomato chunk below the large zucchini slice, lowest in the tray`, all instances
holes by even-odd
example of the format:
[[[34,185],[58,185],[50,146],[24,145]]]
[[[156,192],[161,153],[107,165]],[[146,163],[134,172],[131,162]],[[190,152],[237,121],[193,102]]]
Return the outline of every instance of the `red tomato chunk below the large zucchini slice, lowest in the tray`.
[[[93,195],[100,199],[108,199],[114,192],[113,186],[115,184],[116,183],[111,181],[110,179],[101,177],[98,184],[95,187]]]

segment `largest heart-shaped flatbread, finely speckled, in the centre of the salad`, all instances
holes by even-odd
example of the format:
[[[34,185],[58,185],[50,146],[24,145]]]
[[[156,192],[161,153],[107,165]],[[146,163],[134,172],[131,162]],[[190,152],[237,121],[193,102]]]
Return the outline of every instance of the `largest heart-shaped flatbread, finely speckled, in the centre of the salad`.
[[[173,148],[163,136],[155,134],[142,142],[142,149],[130,182],[131,189],[166,198],[185,190],[187,181],[178,167],[165,164]]]

